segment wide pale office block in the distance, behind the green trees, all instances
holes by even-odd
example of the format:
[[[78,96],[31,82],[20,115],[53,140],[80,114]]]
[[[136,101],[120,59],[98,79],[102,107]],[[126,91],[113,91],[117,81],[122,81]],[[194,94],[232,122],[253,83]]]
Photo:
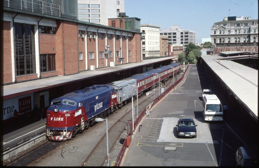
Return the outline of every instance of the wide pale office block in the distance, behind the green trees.
[[[170,29],[161,29],[160,35],[169,38],[168,44],[183,44],[184,50],[189,43],[196,44],[196,31],[184,30],[178,25],[173,25]]]

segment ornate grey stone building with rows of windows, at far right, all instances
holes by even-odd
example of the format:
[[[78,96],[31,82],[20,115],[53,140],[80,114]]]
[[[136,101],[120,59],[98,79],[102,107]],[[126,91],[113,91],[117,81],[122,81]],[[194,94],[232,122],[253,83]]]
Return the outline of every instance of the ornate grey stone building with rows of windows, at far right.
[[[251,17],[225,17],[211,28],[211,43],[213,46],[257,46],[258,19]]]

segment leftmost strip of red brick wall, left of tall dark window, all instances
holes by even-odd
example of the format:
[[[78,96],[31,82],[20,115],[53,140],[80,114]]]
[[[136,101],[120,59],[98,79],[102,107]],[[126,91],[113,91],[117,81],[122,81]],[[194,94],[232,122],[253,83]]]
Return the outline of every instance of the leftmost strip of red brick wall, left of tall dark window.
[[[11,54],[11,28],[8,21],[2,21],[3,25],[3,84],[12,82],[12,54]]]

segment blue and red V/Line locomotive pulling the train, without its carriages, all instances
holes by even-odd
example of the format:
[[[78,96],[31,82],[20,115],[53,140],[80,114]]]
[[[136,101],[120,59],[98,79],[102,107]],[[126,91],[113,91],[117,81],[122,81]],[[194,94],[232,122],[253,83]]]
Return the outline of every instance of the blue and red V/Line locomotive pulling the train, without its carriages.
[[[88,128],[95,118],[114,112],[116,92],[109,85],[94,85],[51,101],[47,109],[46,136],[62,141]]]

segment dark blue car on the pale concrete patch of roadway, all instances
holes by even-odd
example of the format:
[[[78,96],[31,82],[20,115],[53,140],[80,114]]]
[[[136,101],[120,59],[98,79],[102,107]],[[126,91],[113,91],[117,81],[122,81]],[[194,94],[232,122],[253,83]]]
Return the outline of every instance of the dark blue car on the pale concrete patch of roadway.
[[[192,118],[182,118],[177,122],[178,137],[197,137],[196,126]]]

